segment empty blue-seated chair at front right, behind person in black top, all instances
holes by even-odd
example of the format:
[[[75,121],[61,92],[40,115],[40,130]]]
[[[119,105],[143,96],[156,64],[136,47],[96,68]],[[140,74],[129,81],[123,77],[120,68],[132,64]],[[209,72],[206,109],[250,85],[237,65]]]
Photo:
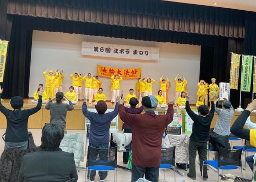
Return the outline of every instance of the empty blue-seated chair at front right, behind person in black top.
[[[202,179],[204,173],[204,165],[212,166],[218,170],[218,181],[219,181],[219,170],[232,170],[241,168],[241,175],[243,177],[242,161],[241,161],[242,149],[224,149],[221,148],[218,153],[218,160],[205,160],[202,166]]]

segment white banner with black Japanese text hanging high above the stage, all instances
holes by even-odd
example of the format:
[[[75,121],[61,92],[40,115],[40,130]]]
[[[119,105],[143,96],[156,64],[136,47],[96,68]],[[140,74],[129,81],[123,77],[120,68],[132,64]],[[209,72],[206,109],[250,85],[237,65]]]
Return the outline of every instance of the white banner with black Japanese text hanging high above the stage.
[[[82,55],[159,60],[159,48],[82,42]]]

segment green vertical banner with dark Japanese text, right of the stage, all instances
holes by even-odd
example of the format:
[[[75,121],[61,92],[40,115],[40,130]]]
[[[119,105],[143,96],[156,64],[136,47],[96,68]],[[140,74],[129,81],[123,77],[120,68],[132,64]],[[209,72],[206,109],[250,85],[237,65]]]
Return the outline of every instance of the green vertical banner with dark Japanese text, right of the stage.
[[[252,60],[253,60],[253,56],[243,55],[242,78],[241,78],[241,91],[243,92],[251,91]]]

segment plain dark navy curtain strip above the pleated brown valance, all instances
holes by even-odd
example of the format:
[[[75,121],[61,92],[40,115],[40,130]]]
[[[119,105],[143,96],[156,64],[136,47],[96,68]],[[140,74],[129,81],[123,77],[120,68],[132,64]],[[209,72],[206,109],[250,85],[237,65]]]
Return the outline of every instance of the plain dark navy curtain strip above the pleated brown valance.
[[[159,0],[9,0],[244,26],[245,11]]]

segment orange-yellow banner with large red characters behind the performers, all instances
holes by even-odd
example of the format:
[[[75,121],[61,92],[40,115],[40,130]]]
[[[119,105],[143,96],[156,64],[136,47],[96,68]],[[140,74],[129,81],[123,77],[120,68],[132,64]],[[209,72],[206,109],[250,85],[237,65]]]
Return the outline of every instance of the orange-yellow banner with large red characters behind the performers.
[[[97,75],[102,77],[112,77],[114,74],[119,74],[123,79],[140,78],[140,68],[114,68],[108,66],[97,66]]]

